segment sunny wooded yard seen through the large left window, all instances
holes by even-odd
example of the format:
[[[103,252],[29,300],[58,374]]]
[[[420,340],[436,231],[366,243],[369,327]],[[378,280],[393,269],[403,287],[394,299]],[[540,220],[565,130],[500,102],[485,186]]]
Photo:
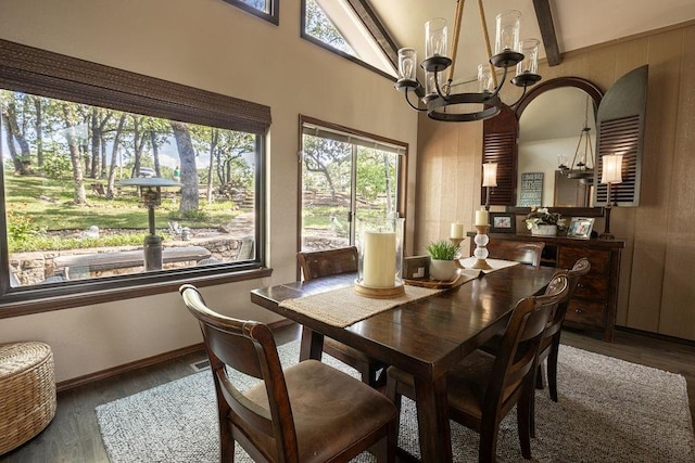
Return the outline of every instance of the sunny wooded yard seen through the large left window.
[[[8,90],[0,104],[12,287],[142,272],[148,209],[117,183],[176,170],[154,208],[164,269],[254,259],[258,136]]]

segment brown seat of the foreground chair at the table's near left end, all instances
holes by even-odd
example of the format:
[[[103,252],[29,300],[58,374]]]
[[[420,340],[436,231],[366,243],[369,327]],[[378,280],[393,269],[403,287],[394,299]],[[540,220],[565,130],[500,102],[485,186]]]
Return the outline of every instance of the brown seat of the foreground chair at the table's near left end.
[[[329,460],[397,413],[395,406],[379,391],[316,360],[286,369],[285,380],[302,462]],[[268,408],[264,384],[245,396]]]

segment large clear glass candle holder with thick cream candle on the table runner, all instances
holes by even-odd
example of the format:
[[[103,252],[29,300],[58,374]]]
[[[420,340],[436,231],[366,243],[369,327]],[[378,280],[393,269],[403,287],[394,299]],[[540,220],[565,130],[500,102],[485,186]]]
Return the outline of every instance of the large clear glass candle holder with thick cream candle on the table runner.
[[[372,298],[399,297],[403,284],[405,219],[357,219],[355,293]]]

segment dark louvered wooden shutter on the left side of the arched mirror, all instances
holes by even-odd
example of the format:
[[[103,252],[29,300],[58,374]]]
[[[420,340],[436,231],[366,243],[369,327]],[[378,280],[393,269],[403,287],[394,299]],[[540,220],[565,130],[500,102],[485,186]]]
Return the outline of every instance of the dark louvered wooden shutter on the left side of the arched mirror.
[[[490,204],[516,205],[517,189],[517,137],[519,124],[507,106],[482,126],[482,163],[497,163],[497,187],[490,189]],[[482,171],[482,166],[480,167]],[[482,178],[482,177],[481,177]],[[481,189],[480,204],[485,204],[485,189]]]

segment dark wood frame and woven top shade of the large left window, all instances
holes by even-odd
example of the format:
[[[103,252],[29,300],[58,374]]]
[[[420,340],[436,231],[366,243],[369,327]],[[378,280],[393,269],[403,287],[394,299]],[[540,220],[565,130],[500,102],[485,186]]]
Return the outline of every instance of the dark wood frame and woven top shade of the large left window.
[[[265,267],[266,137],[270,108],[0,39],[0,88],[116,111],[162,117],[256,134],[260,150],[255,172],[255,258],[204,267],[180,268],[101,279],[33,286],[10,286],[8,223],[0,202],[0,319],[177,291],[184,283],[199,286],[257,279]],[[4,192],[4,163],[0,163]],[[4,196],[4,193],[3,193]],[[127,291],[124,291],[127,290]]]

